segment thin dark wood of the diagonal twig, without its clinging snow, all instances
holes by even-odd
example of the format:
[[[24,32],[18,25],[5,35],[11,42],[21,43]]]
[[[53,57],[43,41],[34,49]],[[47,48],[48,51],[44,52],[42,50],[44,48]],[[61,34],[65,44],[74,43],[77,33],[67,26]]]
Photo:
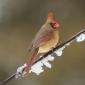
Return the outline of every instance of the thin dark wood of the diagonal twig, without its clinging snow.
[[[62,42],[61,44],[59,44],[57,47],[55,47],[53,50],[47,52],[43,57],[39,58],[38,60],[36,60],[33,65],[39,61],[41,61],[43,58],[47,57],[48,55],[52,54],[53,51],[60,49],[61,47],[63,47],[64,45],[74,41],[79,35],[81,35],[82,33],[85,33],[85,29],[81,30],[80,32],[78,32],[77,34],[75,34],[74,36],[72,36],[71,38],[69,38],[68,40],[66,40],[65,42]],[[8,83],[9,81],[11,81],[12,79],[14,79],[16,76],[16,73],[14,73],[13,75],[11,75],[10,77],[8,77],[6,80],[2,81],[0,83],[0,85],[4,85],[6,83]]]

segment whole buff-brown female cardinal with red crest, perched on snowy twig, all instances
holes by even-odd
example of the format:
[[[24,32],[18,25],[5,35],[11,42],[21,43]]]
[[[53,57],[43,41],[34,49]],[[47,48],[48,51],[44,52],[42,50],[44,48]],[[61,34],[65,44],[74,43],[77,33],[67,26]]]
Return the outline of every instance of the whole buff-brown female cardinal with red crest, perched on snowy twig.
[[[41,54],[52,50],[59,41],[59,24],[55,20],[53,13],[49,13],[45,24],[40,28],[30,46],[30,58],[27,61],[27,67],[23,70],[25,76],[31,69],[32,64]]]

